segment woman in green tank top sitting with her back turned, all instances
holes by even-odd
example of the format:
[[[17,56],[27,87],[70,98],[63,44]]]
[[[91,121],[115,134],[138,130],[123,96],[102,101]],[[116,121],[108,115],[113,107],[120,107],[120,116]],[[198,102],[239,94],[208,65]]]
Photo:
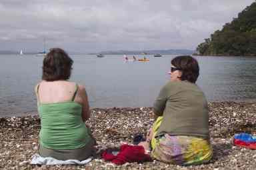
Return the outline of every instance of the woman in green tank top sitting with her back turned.
[[[51,49],[43,59],[42,81],[35,86],[41,119],[39,155],[59,160],[85,160],[95,140],[85,125],[90,117],[83,85],[69,81],[73,60],[63,49]]]

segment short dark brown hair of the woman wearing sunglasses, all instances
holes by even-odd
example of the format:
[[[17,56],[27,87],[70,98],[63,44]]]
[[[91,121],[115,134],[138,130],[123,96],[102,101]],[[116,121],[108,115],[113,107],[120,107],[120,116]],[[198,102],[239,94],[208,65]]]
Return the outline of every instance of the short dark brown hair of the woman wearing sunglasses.
[[[199,65],[197,60],[190,55],[181,55],[171,60],[171,64],[181,70],[181,81],[187,80],[195,83],[199,76]]]

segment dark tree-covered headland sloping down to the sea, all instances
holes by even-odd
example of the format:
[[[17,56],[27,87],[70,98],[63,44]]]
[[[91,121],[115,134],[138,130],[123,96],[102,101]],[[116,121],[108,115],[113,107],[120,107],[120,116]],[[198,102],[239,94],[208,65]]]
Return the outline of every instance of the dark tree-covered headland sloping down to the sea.
[[[256,56],[256,2],[197,46],[199,55]]]

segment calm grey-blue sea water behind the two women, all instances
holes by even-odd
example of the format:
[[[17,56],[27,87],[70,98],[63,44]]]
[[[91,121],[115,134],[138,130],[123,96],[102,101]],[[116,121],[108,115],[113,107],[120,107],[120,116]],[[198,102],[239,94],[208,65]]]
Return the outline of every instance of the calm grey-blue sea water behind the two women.
[[[71,57],[71,81],[85,85],[91,107],[150,107],[169,80],[175,56],[147,56],[149,62],[125,62],[122,55]],[[256,99],[256,57],[195,58],[201,67],[197,85],[208,101]],[[0,117],[36,113],[33,87],[41,79],[42,61],[35,55],[0,55]]]

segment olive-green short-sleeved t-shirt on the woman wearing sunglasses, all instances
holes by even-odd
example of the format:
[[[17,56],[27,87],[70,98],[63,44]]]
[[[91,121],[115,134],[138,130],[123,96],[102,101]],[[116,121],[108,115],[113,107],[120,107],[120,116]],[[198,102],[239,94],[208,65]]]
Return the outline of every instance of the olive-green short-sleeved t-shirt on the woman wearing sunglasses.
[[[205,95],[188,81],[169,81],[153,107],[163,113],[157,135],[191,135],[209,138],[209,115]]]

